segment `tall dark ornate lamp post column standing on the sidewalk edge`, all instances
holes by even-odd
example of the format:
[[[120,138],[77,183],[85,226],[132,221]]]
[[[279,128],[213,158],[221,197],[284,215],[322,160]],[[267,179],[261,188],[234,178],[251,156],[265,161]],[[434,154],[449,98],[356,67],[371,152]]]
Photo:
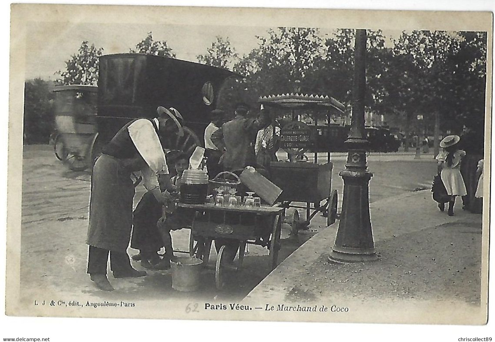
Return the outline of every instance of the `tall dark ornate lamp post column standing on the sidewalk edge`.
[[[352,118],[347,145],[342,214],[329,259],[338,262],[374,261],[376,255],[369,210],[369,180],[366,150],[369,141],[364,130],[364,94],[366,89],[366,30],[356,30]]]

